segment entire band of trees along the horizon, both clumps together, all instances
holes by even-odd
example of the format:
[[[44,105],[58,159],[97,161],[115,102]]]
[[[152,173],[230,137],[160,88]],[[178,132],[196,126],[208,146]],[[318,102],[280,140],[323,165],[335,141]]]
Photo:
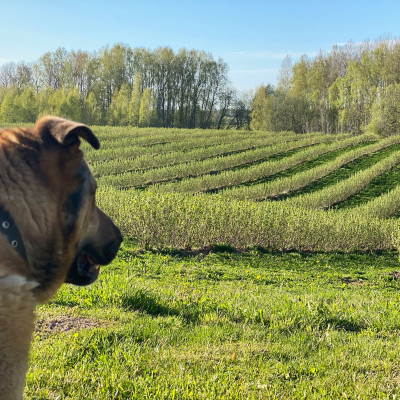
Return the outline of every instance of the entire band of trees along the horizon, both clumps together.
[[[55,114],[91,125],[400,132],[400,41],[334,46],[296,63],[276,87],[240,94],[210,53],[116,44],[47,52],[0,66],[0,122]]]

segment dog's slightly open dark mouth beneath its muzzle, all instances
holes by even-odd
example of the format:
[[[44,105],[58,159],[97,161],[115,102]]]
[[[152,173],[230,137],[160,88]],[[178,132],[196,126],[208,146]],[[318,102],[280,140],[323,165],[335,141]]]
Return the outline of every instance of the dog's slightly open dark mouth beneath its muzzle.
[[[99,276],[100,264],[93,255],[83,252],[75,257],[69,268],[66,283],[78,286],[86,286],[93,283]]]

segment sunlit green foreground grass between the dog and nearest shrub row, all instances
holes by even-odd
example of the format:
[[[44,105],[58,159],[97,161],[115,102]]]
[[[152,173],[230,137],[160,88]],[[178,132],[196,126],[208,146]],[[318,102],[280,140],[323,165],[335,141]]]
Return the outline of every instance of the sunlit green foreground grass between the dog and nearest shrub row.
[[[138,253],[128,239],[99,282],[38,309],[26,397],[395,398],[399,270],[396,253]]]

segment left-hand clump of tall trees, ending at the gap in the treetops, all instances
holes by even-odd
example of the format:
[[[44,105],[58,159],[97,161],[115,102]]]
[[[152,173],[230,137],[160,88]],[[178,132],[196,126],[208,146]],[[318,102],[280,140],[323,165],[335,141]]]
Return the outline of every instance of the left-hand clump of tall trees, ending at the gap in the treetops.
[[[2,122],[55,114],[91,125],[246,128],[250,103],[231,86],[227,64],[198,50],[58,48],[0,67]]]

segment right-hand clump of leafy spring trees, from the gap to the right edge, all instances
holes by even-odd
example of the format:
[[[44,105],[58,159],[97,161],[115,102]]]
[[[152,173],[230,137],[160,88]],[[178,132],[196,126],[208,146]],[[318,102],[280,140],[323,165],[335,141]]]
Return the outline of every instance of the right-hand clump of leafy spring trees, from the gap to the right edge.
[[[250,115],[257,130],[400,133],[400,41],[347,43],[295,64],[287,57]]]

